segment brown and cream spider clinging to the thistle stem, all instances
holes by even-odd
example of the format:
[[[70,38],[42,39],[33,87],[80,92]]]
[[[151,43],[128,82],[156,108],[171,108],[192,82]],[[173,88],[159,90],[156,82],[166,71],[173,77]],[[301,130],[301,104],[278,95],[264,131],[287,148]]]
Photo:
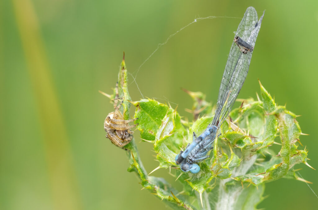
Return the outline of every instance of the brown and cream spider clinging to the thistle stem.
[[[107,115],[105,122],[104,122],[104,128],[107,132],[106,137],[116,146],[123,147],[127,145],[132,139],[134,131],[130,130],[130,128],[134,128],[138,125],[129,125],[129,122],[133,122],[135,120],[138,120],[138,118],[131,119],[131,120],[124,120],[123,115],[119,111],[119,108],[121,107],[123,101],[121,101],[118,104],[118,100],[120,99],[118,97],[118,82],[116,83],[116,89],[115,89],[116,95],[114,99],[114,112],[111,112]],[[118,104],[118,105],[117,105]]]

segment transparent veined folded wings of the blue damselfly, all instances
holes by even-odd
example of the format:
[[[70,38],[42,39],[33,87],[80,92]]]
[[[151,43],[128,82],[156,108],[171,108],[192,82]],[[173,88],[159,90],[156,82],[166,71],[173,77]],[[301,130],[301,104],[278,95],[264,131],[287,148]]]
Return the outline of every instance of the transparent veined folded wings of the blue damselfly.
[[[241,37],[254,47],[263,16],[264,13],[257,22],[256,10],[253,7],[247,8],[235,36]],[[247,76],[252,53],[253,51],[243,54],[236,43],[232,43],[219,89],[217,109],[211,125],[220,127],[229,115]]]

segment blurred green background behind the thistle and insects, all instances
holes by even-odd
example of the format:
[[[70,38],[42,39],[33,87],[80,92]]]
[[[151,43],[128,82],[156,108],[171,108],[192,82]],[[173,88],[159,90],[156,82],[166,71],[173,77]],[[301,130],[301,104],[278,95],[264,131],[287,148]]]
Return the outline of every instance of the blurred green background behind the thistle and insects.
[[[0,209],[163,209],[127,172],[125,151],[105,138],[103,121],[113,107],[98,90],[112,93],[123,51],[133,73],[196,17],[242,18],[248,6],[266,12],[239,98],[255,98],[259,78],[277,103],[302,115],[310,135],[301,142],[318,168],[317,1],[0,1]],[[171,38],[140,68],[142,94],[178,104],[188,118],[192,101],[180,87],[215,102],[239,22],[203,20]],[[129,92],[141,98],[134,83]],[[136,141],[151,171],[158,164],[152,145]],[[297,168],[318,192],[317,172]],[[174,181],[168,170],[154,175]],[[265,195],[260,208],[318,204],[296,180],[267,183]]]

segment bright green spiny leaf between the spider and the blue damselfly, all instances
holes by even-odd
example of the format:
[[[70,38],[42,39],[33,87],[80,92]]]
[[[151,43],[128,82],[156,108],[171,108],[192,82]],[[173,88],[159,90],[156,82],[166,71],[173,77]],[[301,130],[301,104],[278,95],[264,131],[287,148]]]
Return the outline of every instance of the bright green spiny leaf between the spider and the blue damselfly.
[[[135,117],[141,138],[154,140],[154,150],[160,167],[175,165],[175,157],[187,138],[187,132],[176,110],[152,99],[132,102],[136,107]]]

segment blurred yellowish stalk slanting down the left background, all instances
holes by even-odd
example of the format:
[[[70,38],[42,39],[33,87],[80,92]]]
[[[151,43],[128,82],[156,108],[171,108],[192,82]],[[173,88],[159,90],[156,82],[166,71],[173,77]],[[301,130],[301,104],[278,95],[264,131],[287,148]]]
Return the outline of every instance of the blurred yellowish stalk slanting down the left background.
[[[82,209],[72,152],[51,71],[30,0],[12,0],[17,27],[37,99],[54,209]]]

